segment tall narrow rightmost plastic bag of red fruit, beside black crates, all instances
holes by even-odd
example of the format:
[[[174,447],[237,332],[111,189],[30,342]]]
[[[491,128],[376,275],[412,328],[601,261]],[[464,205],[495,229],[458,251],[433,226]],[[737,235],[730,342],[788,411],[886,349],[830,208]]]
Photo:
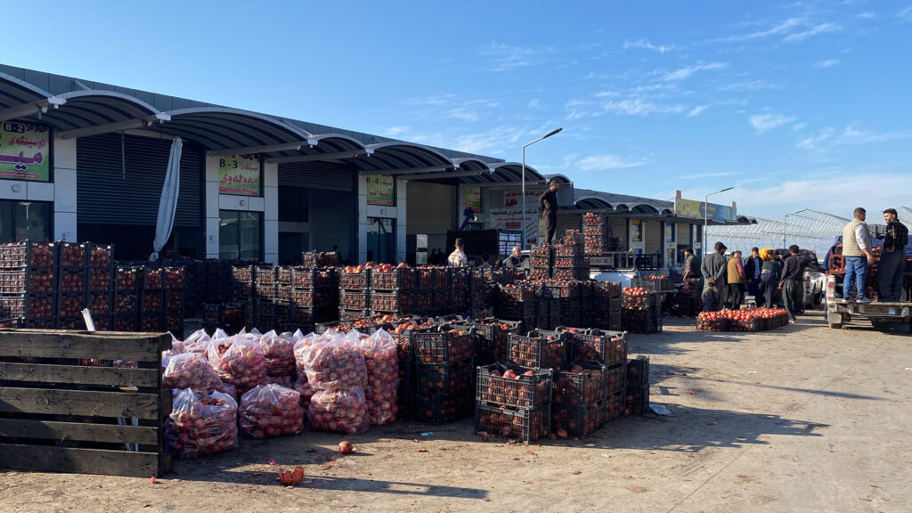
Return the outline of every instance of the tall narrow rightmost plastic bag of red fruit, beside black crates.
[[[396,341],[385,330],[377,330],[361,340],[368,385],[364,393],[368,402],[370,425],[392,424],[399,413],[396,390],[399,387],[399,355]]]

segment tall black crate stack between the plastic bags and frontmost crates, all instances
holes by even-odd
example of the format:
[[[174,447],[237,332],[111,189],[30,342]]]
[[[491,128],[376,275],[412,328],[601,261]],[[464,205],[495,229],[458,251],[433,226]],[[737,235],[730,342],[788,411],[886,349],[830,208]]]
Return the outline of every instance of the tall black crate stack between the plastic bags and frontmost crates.
[[[413,417],[447,424],[472,415],[475,385],[475,334],[464,326],[440,324],[413,330],[416,363]]]

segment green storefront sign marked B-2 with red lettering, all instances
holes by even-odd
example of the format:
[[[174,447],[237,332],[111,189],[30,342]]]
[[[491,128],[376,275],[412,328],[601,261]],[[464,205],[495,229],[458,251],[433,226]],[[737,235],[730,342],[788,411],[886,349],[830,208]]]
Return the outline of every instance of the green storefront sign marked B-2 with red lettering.
[[[0,179],[50,181],[50,133],[47,125],[0,123]]]

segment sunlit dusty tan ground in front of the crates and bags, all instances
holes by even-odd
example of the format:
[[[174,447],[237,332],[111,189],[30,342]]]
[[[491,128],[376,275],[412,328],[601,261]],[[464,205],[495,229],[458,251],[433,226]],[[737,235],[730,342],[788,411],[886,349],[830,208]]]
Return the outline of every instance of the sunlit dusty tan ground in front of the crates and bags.
[[[472,420],[243,440],[159,479],[0,472],[0,510],[906,512],[912,337],[822,314],[755,334],[633,335],[653,403],[579,442],[482,442]],[[432,432],[427,436],[425,432]],[[306,466],[281,487],[278,466]]]

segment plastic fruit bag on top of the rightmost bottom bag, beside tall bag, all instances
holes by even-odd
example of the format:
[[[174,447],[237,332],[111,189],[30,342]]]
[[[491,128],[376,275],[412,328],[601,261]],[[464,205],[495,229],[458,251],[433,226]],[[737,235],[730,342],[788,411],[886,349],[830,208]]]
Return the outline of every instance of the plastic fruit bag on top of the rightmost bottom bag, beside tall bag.
[[[343,336],[327,331],[323,340],[304,352],[307,382],[317,390],[362,388],[368,382],[364,353],[357,331]]]

